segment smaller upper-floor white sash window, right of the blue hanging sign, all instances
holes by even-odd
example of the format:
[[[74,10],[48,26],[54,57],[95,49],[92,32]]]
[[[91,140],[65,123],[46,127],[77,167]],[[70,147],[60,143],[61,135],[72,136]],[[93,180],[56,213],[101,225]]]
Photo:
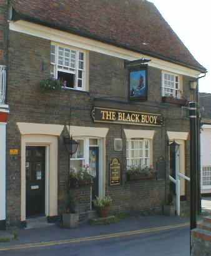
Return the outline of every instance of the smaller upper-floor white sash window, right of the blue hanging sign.
[[[177,74],[162,73],[162,96],[180,98],[180,78]]]

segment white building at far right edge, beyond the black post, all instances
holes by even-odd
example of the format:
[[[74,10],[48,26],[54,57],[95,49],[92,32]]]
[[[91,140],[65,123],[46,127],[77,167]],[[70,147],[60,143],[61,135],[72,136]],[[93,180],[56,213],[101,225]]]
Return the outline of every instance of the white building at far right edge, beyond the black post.
[[[209,179],[211,180],[211,125],[202,126],[200,138],[201,138],[201,192],[211,193],[211,185],[209,186],[209,185],[203,184],[204,174],[207,178],[207,182],[209,181]],[[206,173],[203,172],[204,168],[207,168]]]

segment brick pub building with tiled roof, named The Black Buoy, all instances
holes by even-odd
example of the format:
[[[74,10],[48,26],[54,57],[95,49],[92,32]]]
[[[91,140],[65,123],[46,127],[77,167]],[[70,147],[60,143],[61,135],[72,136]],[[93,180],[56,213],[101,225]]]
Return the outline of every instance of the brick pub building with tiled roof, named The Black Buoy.
[[[69,190],[81,220],[106,195],[112,214],[162,213],[174,193],[169,175],[189,176],[190,81],[205,68],[148,1],[0,8],[8,13],[7,225],[54,222]],[[129,172],[146,167],[153,175]],[[71,182],[84,169],[93,182]],[[182,180],[180,194],[189,200]]]

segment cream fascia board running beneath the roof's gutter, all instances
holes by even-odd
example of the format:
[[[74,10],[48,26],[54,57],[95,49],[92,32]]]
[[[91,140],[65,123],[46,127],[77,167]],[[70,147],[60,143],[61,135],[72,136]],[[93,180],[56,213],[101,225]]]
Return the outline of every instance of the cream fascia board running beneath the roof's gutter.
[[[39,38],[47,39],[56,43],[62,43],[76,48],[81,48],[88,51],[96,51],[97,53],[107,54],[109,56],[117,57],[120,59],[127,59],[134,61],[140,58],[151,59],[149,66],[159,68],[176,74],[183,74],[185,76],[192,76],[198,78],[200,71],[195,69],[186,68],[179,64],[170,63],[162,59],[153,58],[145,54],[140,54],[135,51],[130,51],[110,44],[102,43],[100,41],[77,36],[75,34],[67,33],[57,29],[48,28],[38,24],[30,23],[28,21],[10,21],[9,29],[19,33],[37,36]]]

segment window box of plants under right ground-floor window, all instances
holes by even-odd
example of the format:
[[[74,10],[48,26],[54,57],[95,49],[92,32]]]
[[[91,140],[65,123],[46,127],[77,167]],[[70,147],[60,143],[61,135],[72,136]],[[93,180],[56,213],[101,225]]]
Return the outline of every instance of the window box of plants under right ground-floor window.
[[[152,166],[130,166],[127,170],[127,180],[152,180],[156,173]]]

